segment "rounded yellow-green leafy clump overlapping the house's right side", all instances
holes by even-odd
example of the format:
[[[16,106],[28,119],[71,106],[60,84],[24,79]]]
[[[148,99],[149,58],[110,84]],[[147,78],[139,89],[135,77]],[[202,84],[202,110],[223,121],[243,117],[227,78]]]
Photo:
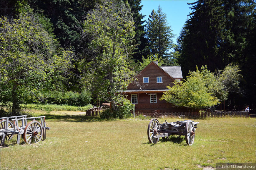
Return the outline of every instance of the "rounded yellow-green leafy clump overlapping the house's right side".
[[[179,107],[192,109],[204,109],[217,105],[227,99],[230,92],[236,89],[241,80],[240,69],[237,65],[229,64],[218,75],[214,75],[202,66],[199,71],[189,71],[187,79],[181,82],[174,82],[169,91],[164,92],[161,99],[173,103]]]

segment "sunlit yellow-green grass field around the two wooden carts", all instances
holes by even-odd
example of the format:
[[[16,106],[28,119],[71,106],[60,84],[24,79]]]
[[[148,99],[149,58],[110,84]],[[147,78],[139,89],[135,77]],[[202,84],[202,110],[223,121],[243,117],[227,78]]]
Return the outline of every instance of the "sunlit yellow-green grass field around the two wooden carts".
[[[207,118],[195,142],[149,143],[150,119],[101,120],[78,111],[34,111],[51,127],[46,140],[1,147],[1,169],[203,169],[215,163],[255,162],[255,118]],[[158,119],[160,123],[184,120]]]

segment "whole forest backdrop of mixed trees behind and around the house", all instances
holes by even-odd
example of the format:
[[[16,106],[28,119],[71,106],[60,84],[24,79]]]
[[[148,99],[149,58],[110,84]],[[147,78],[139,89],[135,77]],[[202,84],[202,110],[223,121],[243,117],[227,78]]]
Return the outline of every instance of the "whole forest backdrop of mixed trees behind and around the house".
[[[1,1],[1,107],[125,106],[116,92],[148,60],[159,60],[180,65],[184,79],[205,65],[216,76],[230,63],[238,66],[242,78],[229,88],[226,108],[255,109],[255,1],[188,4],[192,13],[177,44],[161,7],[144,20],[140,3]]]

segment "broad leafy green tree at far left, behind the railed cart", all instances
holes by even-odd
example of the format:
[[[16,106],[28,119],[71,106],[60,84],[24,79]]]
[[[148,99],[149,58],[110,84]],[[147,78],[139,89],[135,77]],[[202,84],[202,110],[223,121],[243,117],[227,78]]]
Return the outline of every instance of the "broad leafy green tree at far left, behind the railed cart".
[[[73,53],[58,49],[56,40],[39,25],[31,10],[18,19],[1,17],[1,102],[10,99],[16,114],[26,93],[42,99],[70,66]]]

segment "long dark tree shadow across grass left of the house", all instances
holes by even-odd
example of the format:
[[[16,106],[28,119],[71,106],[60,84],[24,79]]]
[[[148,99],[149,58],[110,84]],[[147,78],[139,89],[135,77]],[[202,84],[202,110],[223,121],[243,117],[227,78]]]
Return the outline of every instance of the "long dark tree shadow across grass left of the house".
[[[70,122],[95,122],[95,121],[115,121],[115,119],[101,119],[98,116],[86,116],[86,115],[55,115],[55,114],[41,114],[39,116],[45,116],[46,121],[70,121]]]

